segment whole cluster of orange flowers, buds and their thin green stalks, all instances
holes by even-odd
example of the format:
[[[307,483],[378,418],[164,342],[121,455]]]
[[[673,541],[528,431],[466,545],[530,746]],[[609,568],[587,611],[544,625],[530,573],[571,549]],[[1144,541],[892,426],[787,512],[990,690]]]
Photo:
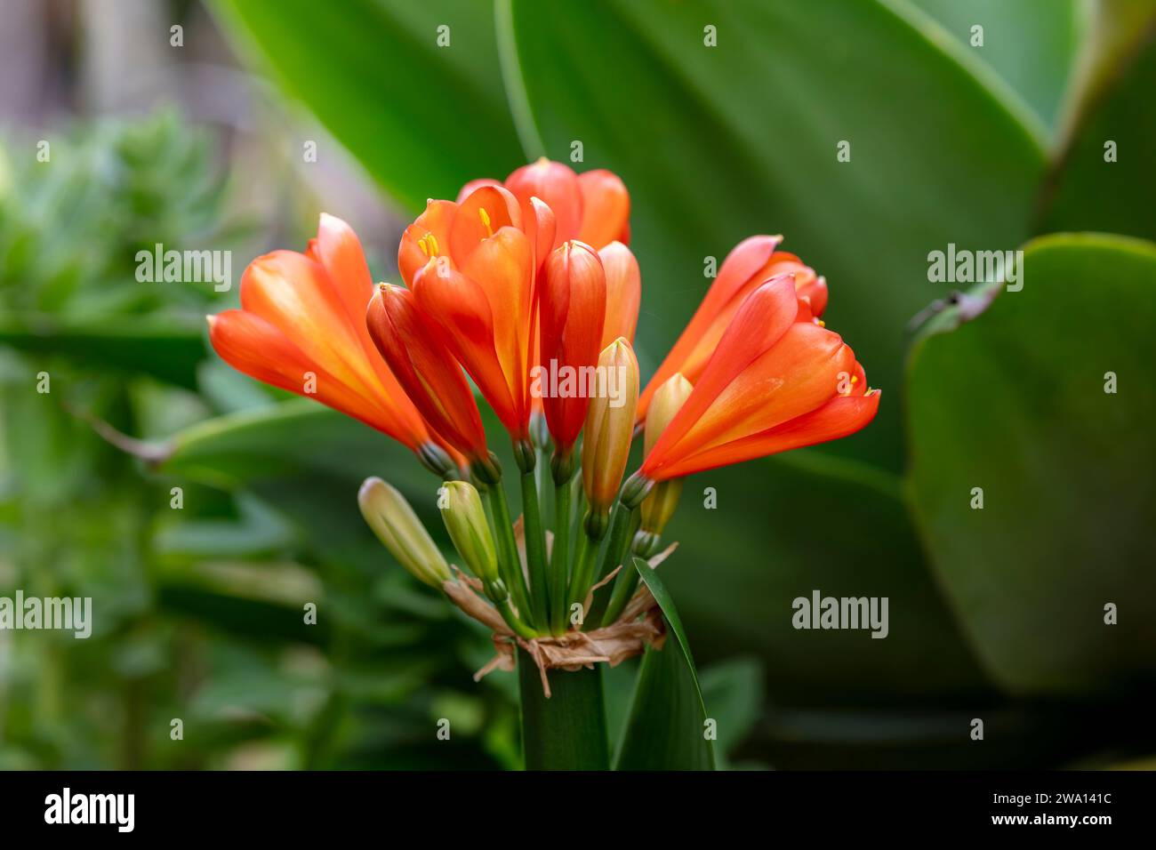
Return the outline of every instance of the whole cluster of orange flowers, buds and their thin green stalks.
[[[429,201],[398,250],[405,286],[375,287],[357,236],[323,215],[304,253],[255,259],[240,309],[209,318],[234,368],[365,422],[445,480],[438,507],[466,572],[380,479],[362,487],[362,512],[410,572],[512,640],[637,620],[637,576],[615,570],[628,552],[655,556],[687,475],[853,434],[879,407],[854,353],[824,327],[827,282],[778,236],[729,253],[640,386],[629,213],[609,171],[540,160]],[[560,391],[541,380],[547,369],[613,380]],[[513,448],[517,522],[477,394]],[[623,483],[638,434],[644,459]],[[538,491],[544,463],[553,500]]]

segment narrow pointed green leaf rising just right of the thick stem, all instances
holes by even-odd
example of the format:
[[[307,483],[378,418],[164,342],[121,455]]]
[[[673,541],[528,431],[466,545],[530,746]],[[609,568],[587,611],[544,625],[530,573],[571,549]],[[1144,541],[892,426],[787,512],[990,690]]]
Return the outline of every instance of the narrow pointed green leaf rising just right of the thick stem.
[[[662,649],[649,648],[643,656],[615,769],[713,770],[706,723],[714,718],[706,714],[679,612],[650,564],[636,557],[633,568],[662,611],[667,635]]]

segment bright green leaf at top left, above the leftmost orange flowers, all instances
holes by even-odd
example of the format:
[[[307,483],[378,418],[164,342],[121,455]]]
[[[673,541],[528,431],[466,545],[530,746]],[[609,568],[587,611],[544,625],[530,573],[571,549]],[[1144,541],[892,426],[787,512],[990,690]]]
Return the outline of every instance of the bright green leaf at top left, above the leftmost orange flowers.
[[[213,8],[406,207],[454,198],[467,180],[501,179],[521,164],[489,3],[216,0]],[[443,25],[450,46],[438,46]]]

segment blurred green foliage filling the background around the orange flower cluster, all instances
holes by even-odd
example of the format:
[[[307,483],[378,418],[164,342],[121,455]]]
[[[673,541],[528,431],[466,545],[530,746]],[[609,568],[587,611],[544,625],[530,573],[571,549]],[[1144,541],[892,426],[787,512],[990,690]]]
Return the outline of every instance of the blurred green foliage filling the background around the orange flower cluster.
[[[390,280],[425,198],[570,161],[575,141],[579,170],[631,190],[644,372],[705,291],[704,258],[781,232],[884,391],[854,438],[687,488],[662,582],[725,766],[1102,767],[1156,747],[1138,699],[1156,682],[1151,3],[7,10],[0,596],[91,596],[95,628],[0,631],[0,767],[518,766],[512,677],[470,677],[488,636],[391,563],[354,503],[379,474],[436,529],[425,473],[231,372],[203,313],[236,286],[140,283],[135,253],[231,250],[236,283],[324,209]],[[950,298],[927,280],[948,243],[1028,243],[1024,289]],[[813,589],[889,597],[889,637],[794,630]],[[612,729],[631,672],[608,675]]]

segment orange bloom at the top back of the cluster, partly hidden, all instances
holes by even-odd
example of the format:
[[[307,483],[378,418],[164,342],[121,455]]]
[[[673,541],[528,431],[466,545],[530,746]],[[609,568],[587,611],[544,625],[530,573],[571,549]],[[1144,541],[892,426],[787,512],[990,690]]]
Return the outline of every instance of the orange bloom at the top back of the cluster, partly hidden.
[[[614,241],[630,242],[630,194],[612,171],[595,169],[578,175],[561,162],[546,157],[523,165],[505,179],[481,179],[467,183],[458,199],[466,198],[479,186],[505,185],[517,195],[523,215],[528,215],[531,200],[541,199],[557,222],[553,247],[578,239],[594,249]]]

